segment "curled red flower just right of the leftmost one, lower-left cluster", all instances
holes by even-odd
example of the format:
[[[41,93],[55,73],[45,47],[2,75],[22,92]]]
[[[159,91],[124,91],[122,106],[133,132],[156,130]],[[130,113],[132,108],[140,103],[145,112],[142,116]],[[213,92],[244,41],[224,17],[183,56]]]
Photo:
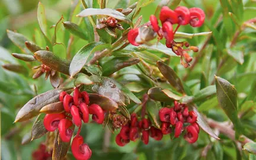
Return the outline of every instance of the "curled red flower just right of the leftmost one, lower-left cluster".
[[[69,142],[71,140],[73,130],[69,129],[72,126],[72,121],[68,119],[62,119],[59,122],[59,134],[63,142]]]

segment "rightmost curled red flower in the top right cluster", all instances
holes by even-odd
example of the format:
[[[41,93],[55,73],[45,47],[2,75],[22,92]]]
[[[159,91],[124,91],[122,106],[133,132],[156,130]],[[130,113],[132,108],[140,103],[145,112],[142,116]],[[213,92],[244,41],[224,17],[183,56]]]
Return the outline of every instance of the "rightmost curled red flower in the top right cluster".
[[[190,25],[192,27],[201,27],[204,23],[205,14],[201,8],[190,8]]]

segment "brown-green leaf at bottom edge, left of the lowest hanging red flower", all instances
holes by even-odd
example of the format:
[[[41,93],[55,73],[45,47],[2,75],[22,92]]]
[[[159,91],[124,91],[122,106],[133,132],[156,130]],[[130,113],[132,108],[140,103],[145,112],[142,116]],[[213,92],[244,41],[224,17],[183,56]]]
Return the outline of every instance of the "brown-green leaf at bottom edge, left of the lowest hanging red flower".
[[[65,159],[66,153],[68,153],[70,142],[62,142],[59,132],[55,137],[55,145],[53,147],[53,160],[62,160]]]

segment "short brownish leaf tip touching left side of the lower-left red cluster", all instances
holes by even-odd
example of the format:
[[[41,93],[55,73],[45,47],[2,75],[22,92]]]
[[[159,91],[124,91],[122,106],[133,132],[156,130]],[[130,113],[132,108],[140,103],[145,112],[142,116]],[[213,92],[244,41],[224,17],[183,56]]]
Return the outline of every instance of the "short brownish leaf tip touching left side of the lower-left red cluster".
[[[41,113],[46,113],[46,114],[62,113],[63,111],[64,111],[64,107],[63,107],[62,101],[57,103],[47,104],[40,110]]]

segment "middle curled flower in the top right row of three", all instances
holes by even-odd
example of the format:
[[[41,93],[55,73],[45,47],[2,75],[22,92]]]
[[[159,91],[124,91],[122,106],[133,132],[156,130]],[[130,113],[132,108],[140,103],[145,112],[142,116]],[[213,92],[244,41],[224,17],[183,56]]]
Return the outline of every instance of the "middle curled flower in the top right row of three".
[[[190,23],[190,11],[187,7],[179,6],[174,9],[174,12],[178,16],[178,24],[187,25]]]

